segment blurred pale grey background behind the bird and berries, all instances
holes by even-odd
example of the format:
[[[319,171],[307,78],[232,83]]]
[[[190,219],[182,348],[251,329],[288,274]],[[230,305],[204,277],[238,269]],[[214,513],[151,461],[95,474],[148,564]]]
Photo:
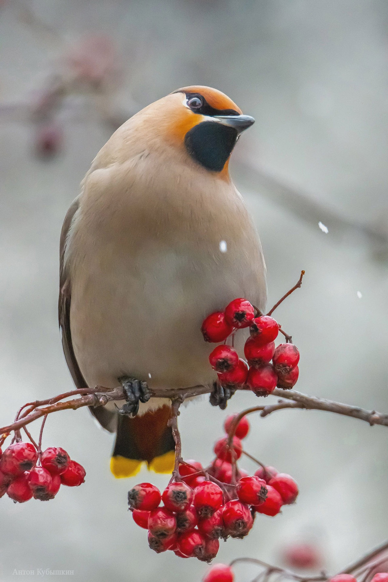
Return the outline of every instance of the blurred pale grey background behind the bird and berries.
[[[301,352],[298,389],[387,411],[387,24],[385,0],[0,0],[0,424],[72,389],[58,242],[91,160],[130,115],[190,84],[256,119],[232,176],[261,235],[268,305],[306,271],[276,311]],[[227,411],[207,398],[184,408],[184,457],[208,463],[227,414],[255,402],[237,393]],[[300,496],[222,543],[217,561],[284,565],[290,544],[308,543],[334,573],[388,537],[385,428],[298,410],[251,425],[247,450],[293,475]],[[1,499],[0,580],[38,568],[74,581],[201,579],[206,565],[151,552],[127,512],[130,486],[163,487],[166,475],[115,480],[112,435],[85,409],[49,417],[43,445],[63,446],[86,483],[50,503]]]

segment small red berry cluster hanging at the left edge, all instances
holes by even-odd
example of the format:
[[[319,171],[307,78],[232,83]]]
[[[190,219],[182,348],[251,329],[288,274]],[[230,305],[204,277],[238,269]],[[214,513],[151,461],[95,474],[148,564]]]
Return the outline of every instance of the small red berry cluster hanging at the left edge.
[[[15,442],[3,453],[0,449],[0,497],[6,493],[15,502],[54,499],[60,485],[81,485],[85,475],[60,447],[51,446],[41,456],[30,442]]]

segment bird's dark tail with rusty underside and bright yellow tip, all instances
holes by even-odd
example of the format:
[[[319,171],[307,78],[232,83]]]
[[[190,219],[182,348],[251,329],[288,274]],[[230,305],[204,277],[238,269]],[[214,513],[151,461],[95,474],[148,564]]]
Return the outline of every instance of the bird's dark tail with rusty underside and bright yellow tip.
[[[145,461],[155,473],[172,473],[175,442],[168,421],[169,406],[141,416],[119,415],[111,471],[115,477],[133,477]]]

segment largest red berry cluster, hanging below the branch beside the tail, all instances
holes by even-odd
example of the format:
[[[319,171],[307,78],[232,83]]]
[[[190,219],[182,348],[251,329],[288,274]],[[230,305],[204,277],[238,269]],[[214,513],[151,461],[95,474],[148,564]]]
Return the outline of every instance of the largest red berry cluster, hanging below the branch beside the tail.
[[[235,424],[234,416],[226,419],[227,434]],[[248,431],[248,420],[243,417],[236,427],[233,450],[227,445],[228,436],[220,439],[214,448],[216,458],[207,469],[194,460],[182,461],[179,475],[173,475],[163,494],[151,483],[129,491],[133,519],[148,530],[151,549],[158,553],[170,549],[180,558],[210,562],[218,552],[219,538],[244,538],[257,513],[275,516],[282,505],[295,501],[298,487],[290,475],[277,473],[273,467],[260,467],[254,475],[238,469],[241,438]]]

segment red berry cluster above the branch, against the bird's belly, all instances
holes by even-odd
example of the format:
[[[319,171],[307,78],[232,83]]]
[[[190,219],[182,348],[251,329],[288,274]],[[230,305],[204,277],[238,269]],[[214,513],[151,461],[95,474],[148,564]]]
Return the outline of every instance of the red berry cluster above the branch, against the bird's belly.
[[[250,337],[245,342],[244,354],[248,364],[239,359],[232,346],[226,345],[230,335],[234,337],[237,329],[247,327]],[[257,396],[268,396],[276,386],[284,390],[292,388],[299,375],[299,352],[293,343],[275,347],[279,329],[273,317],[261,314],[255,317],[255,308],[246,299],[234,299],[225,311],[208,315],[201,328],[205,341],[225,342],[215,347],[209,356],[220,384],[250,389]]]

